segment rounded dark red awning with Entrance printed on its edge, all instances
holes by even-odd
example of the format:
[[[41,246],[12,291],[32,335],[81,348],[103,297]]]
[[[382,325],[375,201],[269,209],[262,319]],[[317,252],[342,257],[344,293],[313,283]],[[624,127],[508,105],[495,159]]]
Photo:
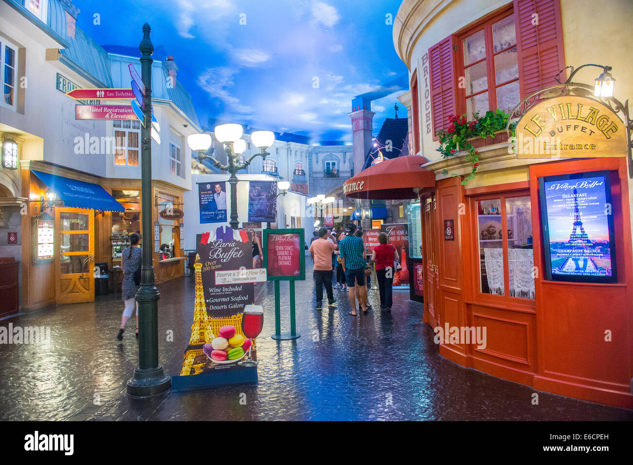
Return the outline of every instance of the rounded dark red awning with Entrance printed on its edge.
[[[435,174],[422,165],[419,155],[385,159],[361,171],[343,184],[343,192],[354,199],[417,199],[418,189],[435,187]]]

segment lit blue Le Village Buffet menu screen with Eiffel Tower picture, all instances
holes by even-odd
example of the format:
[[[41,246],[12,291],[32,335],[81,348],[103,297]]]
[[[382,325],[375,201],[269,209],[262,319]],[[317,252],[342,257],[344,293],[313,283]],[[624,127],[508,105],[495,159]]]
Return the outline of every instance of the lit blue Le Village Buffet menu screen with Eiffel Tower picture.
[[[539,178],[548,280],[617,282],[609,176]]]

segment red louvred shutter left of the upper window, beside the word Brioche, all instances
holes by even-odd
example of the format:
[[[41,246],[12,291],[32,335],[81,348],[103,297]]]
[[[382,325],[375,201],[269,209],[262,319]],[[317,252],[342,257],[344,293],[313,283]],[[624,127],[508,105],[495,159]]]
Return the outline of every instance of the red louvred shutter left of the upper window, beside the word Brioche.
[[[437,131],[448,127],[449,115],[456,112],[456,73],[453,46],[457,39],[449,35],[429,49],[429,78],[433,140]]]

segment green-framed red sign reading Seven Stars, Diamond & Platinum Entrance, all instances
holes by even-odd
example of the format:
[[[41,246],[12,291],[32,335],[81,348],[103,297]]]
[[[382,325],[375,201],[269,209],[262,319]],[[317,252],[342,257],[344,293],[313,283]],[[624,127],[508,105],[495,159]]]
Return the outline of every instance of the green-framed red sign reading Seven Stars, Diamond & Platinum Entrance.
[[[303,281],[306,278],[303,229],[265,229],[263,236],[268,280]]]

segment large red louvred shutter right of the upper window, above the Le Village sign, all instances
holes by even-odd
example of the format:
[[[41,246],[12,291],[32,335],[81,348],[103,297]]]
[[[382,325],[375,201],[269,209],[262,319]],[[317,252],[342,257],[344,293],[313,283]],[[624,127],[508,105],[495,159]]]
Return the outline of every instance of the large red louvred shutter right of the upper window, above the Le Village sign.
[[[560,0],[513,0],[521,98],[556,84],[565,68]],[[534,16],[534,13],[538,16]],[[532,24],[538,20],[538,24]]]

